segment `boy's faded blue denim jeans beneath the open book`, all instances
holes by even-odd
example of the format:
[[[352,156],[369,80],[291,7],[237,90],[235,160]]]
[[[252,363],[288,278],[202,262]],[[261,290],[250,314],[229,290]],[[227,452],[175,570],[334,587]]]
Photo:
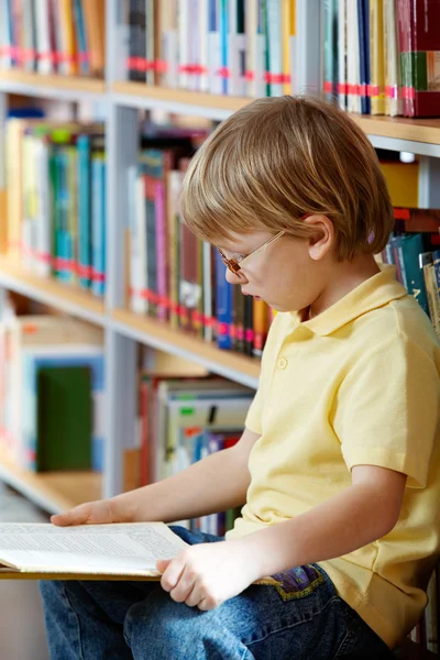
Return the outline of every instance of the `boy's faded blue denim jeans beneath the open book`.
[[[190,544],[222,537],[173,527]],[[251,585],[209,612],[158,582],[43,581],[52,660],[393,658],[317,564]]]

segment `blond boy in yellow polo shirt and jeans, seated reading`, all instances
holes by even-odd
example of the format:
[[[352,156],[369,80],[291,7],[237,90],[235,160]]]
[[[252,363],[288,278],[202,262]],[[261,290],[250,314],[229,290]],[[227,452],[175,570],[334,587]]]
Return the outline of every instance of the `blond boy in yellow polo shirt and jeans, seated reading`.
[[[179,520],[245,502],[162,583],[43,582],[53,659],[386,658],[439,551],[440,349],[380,253],[393,210],[374,150],[337,108],[258,99],[186,176],[189,227],[227,278],[279,311],[240,442],[57,525]],[[260,584],[253,584],[261,581]]]

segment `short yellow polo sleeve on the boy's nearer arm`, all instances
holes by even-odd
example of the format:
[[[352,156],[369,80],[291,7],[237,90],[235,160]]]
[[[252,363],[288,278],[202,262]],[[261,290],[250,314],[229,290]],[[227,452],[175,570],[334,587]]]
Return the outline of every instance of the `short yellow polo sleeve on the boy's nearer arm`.
[[[333,428],[346,466],[403,472],[427,485],[438,438],[440,382],[433,359],[405,336],[369,352],[342,382]]]

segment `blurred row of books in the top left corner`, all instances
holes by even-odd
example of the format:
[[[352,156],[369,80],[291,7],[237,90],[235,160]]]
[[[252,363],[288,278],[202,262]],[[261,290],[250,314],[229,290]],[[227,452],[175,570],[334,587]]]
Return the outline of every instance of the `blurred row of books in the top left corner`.
[[[0,68],[101,77],[106,0],[2,0]]]

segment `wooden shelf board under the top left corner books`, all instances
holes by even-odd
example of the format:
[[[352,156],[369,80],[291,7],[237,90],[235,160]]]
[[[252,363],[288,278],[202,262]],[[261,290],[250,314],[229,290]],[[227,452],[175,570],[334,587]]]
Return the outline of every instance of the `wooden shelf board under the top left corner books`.
[[[31,72],[0,70],[0,91],[72,101],[92,100],[106,91],[106,82],[74,76],[42,76]]]

